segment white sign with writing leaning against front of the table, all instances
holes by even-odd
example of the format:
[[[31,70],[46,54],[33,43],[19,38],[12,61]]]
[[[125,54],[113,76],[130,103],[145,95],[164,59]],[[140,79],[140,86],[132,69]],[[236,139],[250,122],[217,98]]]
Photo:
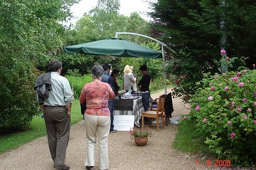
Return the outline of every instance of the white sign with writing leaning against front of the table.
[[[130,131],[134,127],[134,115],[114,115],[114,129]]]

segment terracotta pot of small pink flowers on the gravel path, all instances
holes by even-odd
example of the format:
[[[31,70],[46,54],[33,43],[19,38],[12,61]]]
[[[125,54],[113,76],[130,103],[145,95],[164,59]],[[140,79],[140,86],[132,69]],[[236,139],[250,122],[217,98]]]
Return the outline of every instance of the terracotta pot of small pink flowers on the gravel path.
[[[138,129],[137,127],[131,128],[129,131],[131,137],[134,137],[134,141],[137,146],[145,146],[148,142],[148,137],[152,136],[152,131],[147,127],[146,129]]]

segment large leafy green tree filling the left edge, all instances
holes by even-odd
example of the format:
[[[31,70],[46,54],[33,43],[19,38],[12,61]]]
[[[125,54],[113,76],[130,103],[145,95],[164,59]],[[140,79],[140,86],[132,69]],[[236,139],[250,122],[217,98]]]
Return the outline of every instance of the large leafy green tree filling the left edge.
[[[0,3],[0,134],[28,128],[36,114],[35,65],[62,48],[76,0],[3,0]]]

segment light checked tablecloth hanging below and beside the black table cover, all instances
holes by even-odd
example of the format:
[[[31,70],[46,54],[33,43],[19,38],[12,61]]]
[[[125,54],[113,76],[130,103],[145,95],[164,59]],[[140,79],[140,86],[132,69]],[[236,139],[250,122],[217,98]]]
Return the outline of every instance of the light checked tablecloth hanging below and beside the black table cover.
[[[143,108],[143,104],[142,104],[142,97],[140,96],[139,99],[137,98],[137,99],[133,100],[133,110],[132,111],[114,110],[114,115],[135,115],[134,124],[137,126],[140,126],[140,117],[141,117],[141,113],[143,111],[144,111],[144,108]]]

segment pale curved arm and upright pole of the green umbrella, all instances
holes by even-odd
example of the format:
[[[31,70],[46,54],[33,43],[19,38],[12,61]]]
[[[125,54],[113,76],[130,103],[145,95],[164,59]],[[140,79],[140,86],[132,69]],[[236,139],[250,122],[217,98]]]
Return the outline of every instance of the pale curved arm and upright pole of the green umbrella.
[[[135,36],[141,36],[141,37],[145,37],[145,38],[148,38],[148,39],[151,39],[151,40],[154,40],[156,41],[157,43],[160,43],[161,46],[162,46],[162,56],[163,56],[163,74],[164,74],[164,92],[165,92],[165,95],[167,94],[167,89],[166,89],[166,75],[165,75],[165,60],[164,60],[164,47],[167,47],[166,44],[162,43],[161,41],[158,41],[157,39],[155,38],[152,38],[152,37],[148,37],[148,36],[145,36],[145,35],[141,35],[139,33],[133,33],[133,32],[116,32],[116,38],[118,38],[118,34],[130,34],[130,35],[135,35]]]

